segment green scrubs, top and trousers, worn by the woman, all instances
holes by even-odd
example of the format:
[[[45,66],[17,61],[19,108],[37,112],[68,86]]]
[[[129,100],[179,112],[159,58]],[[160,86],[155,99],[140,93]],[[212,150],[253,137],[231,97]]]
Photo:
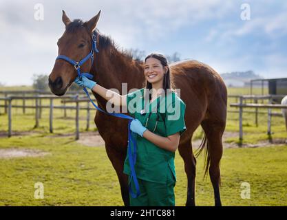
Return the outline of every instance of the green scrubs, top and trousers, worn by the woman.
[[[147,106],[144,102],[144,91],[140,89],[127,96],[127,107],[131,100],[140,96],[141,106]],[[158,106],[158,108],[157,108]],[[164,108],[162,111],[162,108]],[[157,112],[153,109],[157,108]],[[167,97],[159,97],[149,104],[149,111],[143,114],[138,111],[130,113],[138,119],[149,131],[168,137],[175,133],[185,131],[184,124],[185,104],[178,96],[172,92]],[[150,115],[149,115],[150,112]],[[176,117],[175,117],[176,115]],[[158,122],[157,121],[158,117]],[[145,137],[137,135],[137,157],[136,176],[140,186],[140,195],[136,198],[130,196],[131,206],[174,206],[175,197],[173,188],[176,185],[176,170],[174,166],[174,155],[172,151],[167,151],[156,146]],[[131,175],[129,166],[129,155],[125,159],[124,173]],[[129,180],[131,178],[129,177]],[[131,189],[136,192],[134,181],[129,182]]]

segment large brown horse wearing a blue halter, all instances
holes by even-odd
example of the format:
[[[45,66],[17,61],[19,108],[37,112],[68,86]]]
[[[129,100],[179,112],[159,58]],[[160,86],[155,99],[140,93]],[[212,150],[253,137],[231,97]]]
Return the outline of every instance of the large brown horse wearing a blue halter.
[[[58,41],[59,54],[68,56],[74,61],[83,59],[92,48],[92,31],[100,12],[87,22],[70,21],[63,11],[65,32]],[[141,61],[135,61],[129,54],[118,50],[114,41],[100,34],[98,30],[97,47],[94,62],[91,59],[82,67],[82,72],[94,75],[94,80],[107,89],[116,88],[121,93],[122,83],[127,83],[128,90],[142,88],[144,70]],[[204,140],[200,149],[206,145],[206,170],[214,189],[215,206],[220,206],[220,159],[222,157],[222,134],[226,124],[227,91],[222,78],[211,67],[198,61],[184,61],[171,65],[174,84],[180,89],[180,98],[187,105],[185,122],[187,131],[180,137],[178,151],[184,159],[187,174],[187,206],[195,206],[195,156],[191,146],[193,132],[201,124]],[[63,96],[77,76],[76,69],[70,63],[56,60],[49,76],[51,91]],[[94,94],[101,109],[106,109],[107,101]],[[127,175],[123,173],[124,160],[127,154],[127,120],[96,112],[94,119],[98,132],[105,140],[107,155],[114,166],[120,182],[120,189],[125,206],[129,205]],[[206,142],[207,140],[207,142]]]

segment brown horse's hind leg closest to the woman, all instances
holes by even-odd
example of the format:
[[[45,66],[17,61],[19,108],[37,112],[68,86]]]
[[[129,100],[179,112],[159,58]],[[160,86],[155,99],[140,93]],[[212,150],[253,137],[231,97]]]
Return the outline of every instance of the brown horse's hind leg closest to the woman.
[[[193,156],[191,139],[178,146],[180,156],[184,160],[184,170],[187,174],[187,203],[186,206],[195,206],[195,165],[196,159]]]

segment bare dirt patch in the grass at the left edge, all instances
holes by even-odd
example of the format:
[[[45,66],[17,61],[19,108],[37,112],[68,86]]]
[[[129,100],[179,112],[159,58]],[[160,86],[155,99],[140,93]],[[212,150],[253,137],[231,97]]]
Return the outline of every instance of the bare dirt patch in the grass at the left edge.
[[[14,158],[14,157],[42,157],[49,155],[50,153],[31,150],[31,149],[22,149],[22,148],[5,148],[0,149],[0,159],[2,158]]]

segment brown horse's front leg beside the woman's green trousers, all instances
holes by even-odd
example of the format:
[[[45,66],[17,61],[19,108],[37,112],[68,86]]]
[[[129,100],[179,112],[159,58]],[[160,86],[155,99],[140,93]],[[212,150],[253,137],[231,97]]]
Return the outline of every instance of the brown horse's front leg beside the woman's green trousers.
[[[111,164],[116,170],[118,175],[118,181],[120,182],[120,191],[122,193],[122,198],[125,206],[129,206],[129,182],[127,175],[123,173],[124,162],[126,154],[117,151],[115,148],[106,145],[107,156],[111,161]]]

